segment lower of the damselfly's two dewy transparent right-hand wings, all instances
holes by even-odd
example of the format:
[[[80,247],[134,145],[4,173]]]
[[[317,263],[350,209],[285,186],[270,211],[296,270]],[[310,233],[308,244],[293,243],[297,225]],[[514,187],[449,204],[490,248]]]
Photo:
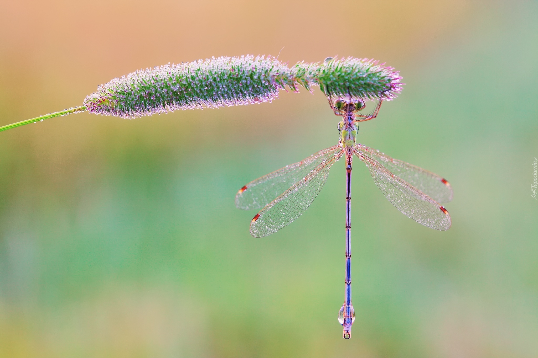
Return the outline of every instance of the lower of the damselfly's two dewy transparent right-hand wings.
[[[385,169],[377,160],[365,156],[363,150],[353,152],[366,164],[381,192],[398,210],[428,228],[450,228],[450,215],[440,203]]]

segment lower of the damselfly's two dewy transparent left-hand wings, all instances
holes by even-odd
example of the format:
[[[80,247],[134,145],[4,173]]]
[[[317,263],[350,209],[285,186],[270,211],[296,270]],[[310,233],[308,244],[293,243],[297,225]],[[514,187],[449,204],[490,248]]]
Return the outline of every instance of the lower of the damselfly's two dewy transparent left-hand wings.
[[[304,213],[327,181],[331,165],[342,157],[344,150],[342,147],[339,148],[305,178],[295,183],[256,214],[250,223],[251,235],[254,237],[271,235]]]

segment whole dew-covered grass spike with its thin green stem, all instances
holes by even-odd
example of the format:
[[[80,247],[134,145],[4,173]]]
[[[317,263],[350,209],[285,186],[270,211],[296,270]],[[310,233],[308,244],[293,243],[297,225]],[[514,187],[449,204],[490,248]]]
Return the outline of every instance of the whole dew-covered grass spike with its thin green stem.
[[[279,90],[312,91],[327,96],[394,99],[402,90],[392,67],[369,59],[299,62],[292,68],[272,56],[212,57],[139,70],[97,87],[82,106],[0,127],[7,130],[48,118],[88,111],[121,118],[138,118],[176,109],[216,108],[271,102]]]

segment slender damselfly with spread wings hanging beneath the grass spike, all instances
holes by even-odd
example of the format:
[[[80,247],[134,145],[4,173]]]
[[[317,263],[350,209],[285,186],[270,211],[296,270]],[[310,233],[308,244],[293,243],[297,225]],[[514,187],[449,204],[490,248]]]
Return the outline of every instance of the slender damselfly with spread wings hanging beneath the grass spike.
[[[451,219],[441,205],[452,200],[449,182],[427,170],[393,159],[379,150],[357,143],[358,123],[376,118],[383,103],[364,115],[365,99],[328,96],[334,114],[340,116],[339,141],[298,163],[266,174],[239,189],[235,202],[239,209],[261,209],[250,223],[254,237],[264,237],[291,224],[312,204],[327,181],[331,166],[345,159],[345,290],[338,312],[343,338],[351,338],[355,310],[351,303],[351,170],[353,156],[366,164],[373,181],[398,210],[428,228],[448,230]]]

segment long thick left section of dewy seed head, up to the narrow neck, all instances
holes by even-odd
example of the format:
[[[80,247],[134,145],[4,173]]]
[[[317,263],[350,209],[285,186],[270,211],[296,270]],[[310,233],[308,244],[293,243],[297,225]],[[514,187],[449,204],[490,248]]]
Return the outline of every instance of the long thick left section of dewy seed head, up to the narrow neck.
[[[286,64],[246,55],[167,64],[133,72],[98,86],[84,100],[91,113],[137,118],[176,109],[271,102],[294,87]]]

